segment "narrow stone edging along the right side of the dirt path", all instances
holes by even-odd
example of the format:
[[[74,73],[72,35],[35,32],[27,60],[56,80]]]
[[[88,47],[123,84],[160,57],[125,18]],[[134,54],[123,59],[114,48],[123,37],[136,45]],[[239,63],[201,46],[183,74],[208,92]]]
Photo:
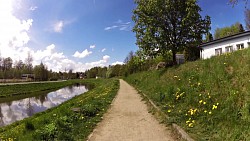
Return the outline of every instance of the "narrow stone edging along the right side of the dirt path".
[[[135,88],[135,87],[134,87],[134,88]],[[144,94],[142,91],[138,90],[137,88],[136,88],[136,90],[137,90],[138,94],[143,95],[143,97],[145,97],[145,98],[149,101],[149,104],[150,104],[151,106],[153,106],[158,112],[160,112],[161,115],[163,115],[165,118],[169,118],[164,112],[161,111],[161,109],[160,109],[158,106],[155,105],[155,103],[154,103],[146,94]],[[182,139],[184,139],[184,140],[186,140],[186,141],[194,141],[194,139],[192,139],[192,138],[188,135],[188,133],[187,133],[184,129],[182,129],[180,126],[178,126],[177,124],[172,123],[172,128],[173,128],[174,130],[177,131],[177,134],[178,134]]]

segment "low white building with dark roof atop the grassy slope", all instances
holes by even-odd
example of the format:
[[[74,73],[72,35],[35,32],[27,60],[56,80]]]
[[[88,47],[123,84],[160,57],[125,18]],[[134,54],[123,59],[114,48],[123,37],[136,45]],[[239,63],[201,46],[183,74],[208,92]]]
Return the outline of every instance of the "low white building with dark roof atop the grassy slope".
[[[220,38],[211,42],[203,43],[201,58],[208,59],[222,53],[232,52],[250,47],[250,31]]]

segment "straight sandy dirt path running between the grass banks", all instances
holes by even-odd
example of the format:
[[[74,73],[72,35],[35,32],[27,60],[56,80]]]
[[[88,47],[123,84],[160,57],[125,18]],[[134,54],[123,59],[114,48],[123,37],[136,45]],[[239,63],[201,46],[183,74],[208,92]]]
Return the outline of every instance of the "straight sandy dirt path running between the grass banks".
[[[171,141],[170,130],[147,111],[137,91],[120,80],[120,90],[111,109],[89,141]]]

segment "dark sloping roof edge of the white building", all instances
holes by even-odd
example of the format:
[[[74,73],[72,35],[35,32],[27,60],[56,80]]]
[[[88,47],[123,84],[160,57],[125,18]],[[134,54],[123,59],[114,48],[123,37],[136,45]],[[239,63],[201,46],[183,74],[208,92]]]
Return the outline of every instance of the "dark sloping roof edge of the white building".
[[[224,37],[224,38],[220,38],[220,39],[217,39],[217,40],[213,40],[211,42],[206,42],[206,43],[201,44],[200,47],[205,47],[205,46],[208,46],[208,45],[221,43],[221,42],[224,42],[224,41],[228,41],[228,40],[232,40],[232,39],[236,39],[236,38],[240,38],[240,37],[244,37],[244,36],[250,36],[250,31],[245,31],[245,32],[241,32],[241,33],[234,34],[234,35],[231,35],[231,36],[227,36],[227,37]]]

